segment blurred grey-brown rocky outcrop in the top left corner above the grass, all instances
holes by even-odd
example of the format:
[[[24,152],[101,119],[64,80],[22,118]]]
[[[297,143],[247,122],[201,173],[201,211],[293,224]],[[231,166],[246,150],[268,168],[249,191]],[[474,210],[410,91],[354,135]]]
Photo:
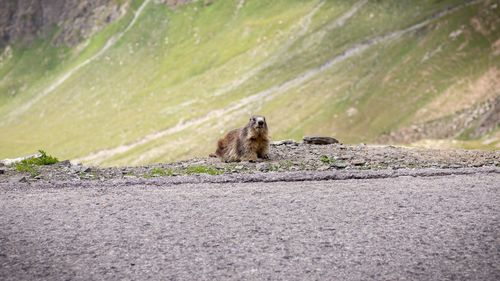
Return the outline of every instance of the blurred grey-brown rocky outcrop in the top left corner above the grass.
[[[0,1],[0,45],[31,43],[57,26],[53,43],[74,46],[124,15],[126,6],[109,0]]]

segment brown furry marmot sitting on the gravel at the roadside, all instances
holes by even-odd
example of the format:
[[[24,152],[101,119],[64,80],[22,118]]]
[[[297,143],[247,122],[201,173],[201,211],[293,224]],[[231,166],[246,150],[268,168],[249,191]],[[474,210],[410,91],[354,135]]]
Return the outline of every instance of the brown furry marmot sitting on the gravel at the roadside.
[[[269,137],[266,118],[252,116],[244,128],[235,129],[217,142],[215,155],[224,162],[269,159]]]

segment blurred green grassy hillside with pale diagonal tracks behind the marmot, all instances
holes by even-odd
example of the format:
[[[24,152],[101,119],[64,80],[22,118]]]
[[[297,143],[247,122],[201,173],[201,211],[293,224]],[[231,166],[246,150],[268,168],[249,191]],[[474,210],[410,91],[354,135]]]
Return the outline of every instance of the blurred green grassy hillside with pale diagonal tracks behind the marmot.
[[[375,142],[500,96],[497,6],[134,1],[75,48],[48,36],[3,51],[0,158],[42,148],[100,165],[178,160],[211,152],[252,113],[274,139]]]

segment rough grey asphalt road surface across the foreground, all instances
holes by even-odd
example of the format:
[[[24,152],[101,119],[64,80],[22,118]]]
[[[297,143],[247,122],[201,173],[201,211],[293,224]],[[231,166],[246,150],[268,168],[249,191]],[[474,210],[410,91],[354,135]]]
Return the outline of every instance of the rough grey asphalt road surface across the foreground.
[[[500,280],[497,167],[4,181],[0,210],[0,280]]]

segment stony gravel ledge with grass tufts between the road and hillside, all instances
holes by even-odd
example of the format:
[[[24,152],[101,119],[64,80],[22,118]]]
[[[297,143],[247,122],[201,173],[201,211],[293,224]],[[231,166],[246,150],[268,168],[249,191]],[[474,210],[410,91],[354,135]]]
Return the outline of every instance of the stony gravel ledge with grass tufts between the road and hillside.
[[[224,182],[245,181],[243,176],[251,181],[258,181],[269,175],[273,175],[276,180],[301,180],[302,175],[307,174],[308,178],[314,179],[314,175],[332,172],[343,173],[344,176],[340,178],[353,178],[346,175],[360,171],[368,171],[373,175],[392,171],[390,174],[399,175],[394,171],[401,170],[406,171],[401,175],[412,175],[411,170],[418,169],[458,171],[479,167],[498,172],[500,151],[428,150],[338,143],[315,145],[281,141],[271,145],[270,160],[256,163],[223,163],[217,158],[195,158],[150,166],[101,168],[73,165],[66,160],[53,165],[37,166],[29,172],[20,172],[15,165],[4,165],[0,166],[0,184],[120,180],[154,182],[165,178],[169,178],[167,182],[175,182],[172,180],[175,178],[203,178],[204,181],[213,181],[217,176],[222,176]]]

